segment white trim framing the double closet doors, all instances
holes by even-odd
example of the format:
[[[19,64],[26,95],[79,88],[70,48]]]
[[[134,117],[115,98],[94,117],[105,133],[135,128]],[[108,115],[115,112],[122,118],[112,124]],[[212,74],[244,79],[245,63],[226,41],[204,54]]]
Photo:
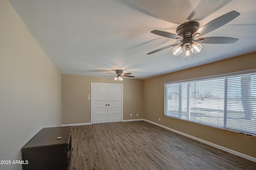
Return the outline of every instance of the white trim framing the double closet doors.
[[[123,110],[124,110],[124,104],[123,104],[123,101],[124,101],[124,84],[122,83],[96,83],[96,82],[91,82],[91,98],[90,98],[90,102],[91,102],[91,123],[90,124],[93,124],[93,120],[92,120],[92,113],[93,113],[93,105],[92,105],[92,101],[93,101],[93,95],[92,95],[92,86],[94,84],[100,84],[100,85],[115,85],[115,86],[121,86],[121,122],[124,122],[124,117],[123,117]]]

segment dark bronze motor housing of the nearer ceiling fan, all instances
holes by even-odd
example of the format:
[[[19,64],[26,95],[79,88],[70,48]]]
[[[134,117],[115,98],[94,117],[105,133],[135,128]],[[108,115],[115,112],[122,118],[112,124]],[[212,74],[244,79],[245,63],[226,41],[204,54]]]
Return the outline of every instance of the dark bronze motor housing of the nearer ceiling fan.
[[[180,24],[176,32],[179,36],[183,38],[192,38],[192,34],[196,32],[199,28],[199,22],[196,21],[189,21],[189,22],[184,22],[183,24]]]

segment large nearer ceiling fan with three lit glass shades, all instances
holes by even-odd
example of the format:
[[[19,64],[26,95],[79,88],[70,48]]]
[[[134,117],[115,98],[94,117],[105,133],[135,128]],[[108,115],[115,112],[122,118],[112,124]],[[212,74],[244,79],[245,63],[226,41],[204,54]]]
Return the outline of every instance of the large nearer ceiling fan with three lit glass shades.
[[[172,54],[175,56],[179,56],[182,54],[182,57],[188,59],[193,57],[193,53],[197,54],[202,50],[202,45],[200,43],[205,44],[231,44],[235,43],[238,39],[237,38],[230,38],[230,37],[204,37],[204,38],[198,38],[199,36],[202,36],[204,34],[207,34],[213,30],[216,30],[217,28],[220,28],[221,26],[227,24],[228,22],[232,21],[234,18],[239,16],[240,13],[236,11],[228,12],[227,14],[224,14],[201,28],[199,28],[199,23],[196,21],[188,21],[184,22],[183,24],[180,24],[176,28],[177,34],[173,34],[170,32],[164,32],[160,30],[154,30],[151,31],[153,34],[164,36],[167,38],[177,39],[180,42],[176,44],[172,44],[170,46],[166,46],[163,48],[160,48],[158,50],[154,50],[148,54],[152,54],[161,50],[165,50],[166,48],[170,48],[172,46],[176,46],[172,50]],[[198,29],[199,28],[199,29]],[[195,38],[198,38],[195,40]]]

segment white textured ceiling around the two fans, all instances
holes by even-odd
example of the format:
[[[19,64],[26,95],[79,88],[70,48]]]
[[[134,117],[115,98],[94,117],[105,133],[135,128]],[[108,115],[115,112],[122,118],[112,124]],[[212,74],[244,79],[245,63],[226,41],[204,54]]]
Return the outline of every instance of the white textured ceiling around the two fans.
[[[256,0],[10,0],[20,18],[62,74],[109,76],[114,69],[146,79],[256,52]],[[202,44],[192,59],[177,57],[177,42],[150,33],[176,34],[188,20],[200,26],[232,10],[241,13],[208,36],[239,38]]]

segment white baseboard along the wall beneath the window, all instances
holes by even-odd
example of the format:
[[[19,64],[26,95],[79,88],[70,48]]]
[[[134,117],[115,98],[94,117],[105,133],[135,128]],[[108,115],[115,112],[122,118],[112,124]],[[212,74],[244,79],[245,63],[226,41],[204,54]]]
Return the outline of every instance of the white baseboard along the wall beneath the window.
[[[256,158],[254,158],[254,157],[252,157],[252,156],[248,156],[248,155],[246,155],[246,154],[242,154],[242,153],[240,153],[240,152],[236,152],[236,151],[234,151],[234,150],[231,150],[231,149],[225,148],[225,147],[223,147],[223,146],[220,146],[220,145],[217,145],[217,144],[208,142],[208,141],[206,141],[206,140],[202,140],[202,139],[200,139],[200,138],[196,138],[196,137],[191,136],[191,135],[189,135],[189,134],[185,134],[185,133],[180,132],[180,131],[178,131],[178,130],[174,130],[174,129],[172,129],[172,128],[168,128],[168,127],[166,127],[166,126],[163,126],[163,125],[158,124],[158,123],[156,123],[156,122],[152,122],[152,121],[150,121],[150,120],[146,120],[146,119],[143,119],[143,120],[146,121],[146,122],[152,123],[152,124],[154,124],[154,125],[156,125],[156,126],[160,126],[160,127],[165,128],[165,129],[167,129],[167,130],[170,130],[170,131],[172,131],[172,132],[176,132],[176,133],[181,134],[181,135],[183,135],[183,136],[186,136],[186,137],[188,137],[188,138],[197,140],[197,141],[202,142],[202,143],[204,143],[204,144],[213,146],[214,148],[218,148],[218,149],[220,149],[220,150],[224,150],[224,151],[226,151],[226,152],[229,152],[230,154],[234,154],[234,155],[236,155],[236,156],[240,156],[240,157],[242,157],[242,158],[245,158],[245,159],[251,160],[251,161],[253,161],[253,162],[256,162]]]

